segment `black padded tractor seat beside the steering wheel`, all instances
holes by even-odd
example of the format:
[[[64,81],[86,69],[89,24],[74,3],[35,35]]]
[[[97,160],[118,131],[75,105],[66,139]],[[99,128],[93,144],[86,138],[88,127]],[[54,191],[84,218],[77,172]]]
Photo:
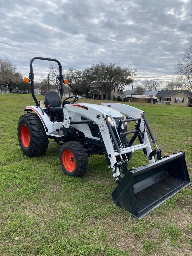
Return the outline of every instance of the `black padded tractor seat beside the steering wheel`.
[[[56,91],[47,91],[45,94],[45,105],[51,105],[51,112],[63,112],[61,107],[61,98]]]

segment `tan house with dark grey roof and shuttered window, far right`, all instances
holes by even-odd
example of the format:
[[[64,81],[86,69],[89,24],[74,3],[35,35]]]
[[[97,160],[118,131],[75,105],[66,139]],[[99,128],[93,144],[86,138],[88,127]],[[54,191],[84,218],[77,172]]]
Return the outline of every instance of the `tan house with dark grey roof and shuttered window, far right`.
[[[156,97],[158,104],[191,107],[191,91],[189,90],[161,90]]]

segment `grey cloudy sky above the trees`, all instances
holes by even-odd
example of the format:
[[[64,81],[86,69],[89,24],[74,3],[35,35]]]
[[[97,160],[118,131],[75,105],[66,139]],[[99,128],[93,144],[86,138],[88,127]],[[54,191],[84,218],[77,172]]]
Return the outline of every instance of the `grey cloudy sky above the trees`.
[[[0,58],[29,74],[33,57],[67,70],[115,62],[168,81],[191,43],[191,0],[0,0]],[[34,75],[49,63],[34,61]]]

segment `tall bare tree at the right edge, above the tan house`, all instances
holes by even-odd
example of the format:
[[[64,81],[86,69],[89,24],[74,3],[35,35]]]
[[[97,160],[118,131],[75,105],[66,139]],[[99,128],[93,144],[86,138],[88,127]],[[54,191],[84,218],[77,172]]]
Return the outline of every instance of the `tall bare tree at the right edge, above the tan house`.
[[[191,64],[191,45],[184,49],[184,53],[181,54],[175,63],[175,69],[177,78],[175,78],[175,84],[177,88],[182,88],[192,91],[191,87],[191,74],[192,74],[192,64]]]

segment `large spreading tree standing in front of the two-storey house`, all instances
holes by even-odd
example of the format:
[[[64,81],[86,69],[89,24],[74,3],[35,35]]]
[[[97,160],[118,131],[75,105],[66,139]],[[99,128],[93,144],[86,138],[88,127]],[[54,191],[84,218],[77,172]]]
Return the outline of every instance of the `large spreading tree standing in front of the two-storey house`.
[[[93,64],[90,70],[90,77],[92,78],[92,84],[97,85],[99,83],[105,92],[106,99],[109,98],[110,92],[119,84],[121,78],[122,69],[121,67],[116,67],[115,63],[110,63],[106,65],[101,62],[100,64]]]

